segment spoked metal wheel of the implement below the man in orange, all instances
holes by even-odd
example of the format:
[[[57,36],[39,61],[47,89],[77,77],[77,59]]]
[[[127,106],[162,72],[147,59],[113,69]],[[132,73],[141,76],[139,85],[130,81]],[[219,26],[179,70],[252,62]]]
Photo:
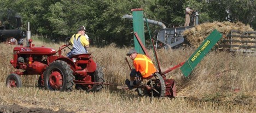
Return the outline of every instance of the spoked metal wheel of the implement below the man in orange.
[[[165,96],[165,81],[158,73],[154,74],[154,77],[147,82],[147,85],[151,87],[151,90],[147,88],[137,88],[137,93],[140,97],[164,97]]]

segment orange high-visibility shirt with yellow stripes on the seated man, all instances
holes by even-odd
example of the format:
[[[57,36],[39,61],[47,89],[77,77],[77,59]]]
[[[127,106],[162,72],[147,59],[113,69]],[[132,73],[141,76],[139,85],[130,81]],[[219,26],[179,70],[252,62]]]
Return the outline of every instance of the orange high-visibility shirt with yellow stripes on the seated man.
[[[137,72],[140,72],[142,78],[147,78],[156,72],[153,62],[146,55],[137,54],[133,60],[133,66]]]

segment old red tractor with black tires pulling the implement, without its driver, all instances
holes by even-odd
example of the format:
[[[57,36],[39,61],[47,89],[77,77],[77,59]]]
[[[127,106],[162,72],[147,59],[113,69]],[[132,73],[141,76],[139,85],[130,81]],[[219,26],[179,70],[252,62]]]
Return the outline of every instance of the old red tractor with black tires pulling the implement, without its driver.
[[[46,90],[100,91],[103,88],[104,74],[102,68],[92,60],[91,54],[73,56],[71,59],[61,55],[68,45],[62,45],[58,51],[48,47],[35,47],[32,40],[28,46],[16,46],[13,50],[15,69],[6,79],[7,87],[21,87],[21,75],[40,75],[38,86]],[[20,72],[19,70],[24,70]]]

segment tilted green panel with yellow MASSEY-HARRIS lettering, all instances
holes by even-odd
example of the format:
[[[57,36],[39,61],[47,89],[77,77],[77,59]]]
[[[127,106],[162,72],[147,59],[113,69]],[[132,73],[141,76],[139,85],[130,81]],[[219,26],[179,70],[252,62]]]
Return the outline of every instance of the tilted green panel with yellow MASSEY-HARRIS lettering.
[[[188,76],[203,57],[212,49],[212,47],[222,38],[216,29],[203,41],[196,51],[189,57],[187,62],[181,67],[184,76]]]

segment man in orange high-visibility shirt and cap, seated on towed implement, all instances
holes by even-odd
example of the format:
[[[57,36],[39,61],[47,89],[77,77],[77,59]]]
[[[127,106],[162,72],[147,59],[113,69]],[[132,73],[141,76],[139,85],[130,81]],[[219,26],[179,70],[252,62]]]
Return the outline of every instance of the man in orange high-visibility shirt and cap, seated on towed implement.
[[[137,84],[135,82],[135,78],[149,78],[156,72],[156,68],[150,58],[148,58],[146,55],[137,53],[135,49],[129,50],[129,52],[126,53],[126,56],[131,58],[135,68],[131,69],[130,80],[125,80],[125,84],[128,86],[129,90],[132,90],[133,86]]]

